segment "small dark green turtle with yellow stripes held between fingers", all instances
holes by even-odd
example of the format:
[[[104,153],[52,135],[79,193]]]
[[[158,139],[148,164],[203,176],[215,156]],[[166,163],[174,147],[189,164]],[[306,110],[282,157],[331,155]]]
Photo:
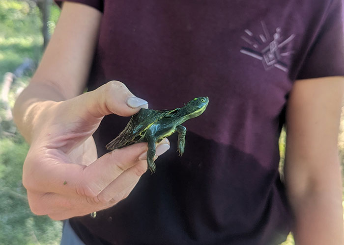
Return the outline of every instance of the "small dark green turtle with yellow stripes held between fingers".
[[[209,102],[208,97],[194,98],[181,108],[172,110],[153,110],[141,108],[133,115],[122,132],[106,145],[108,150],[126,147],[139,142],[147,142],[147,165],[151,173],[155,172],[155,144],[178,132],[177,150],[182,156],[185,148],[185,121],[200,116]]]

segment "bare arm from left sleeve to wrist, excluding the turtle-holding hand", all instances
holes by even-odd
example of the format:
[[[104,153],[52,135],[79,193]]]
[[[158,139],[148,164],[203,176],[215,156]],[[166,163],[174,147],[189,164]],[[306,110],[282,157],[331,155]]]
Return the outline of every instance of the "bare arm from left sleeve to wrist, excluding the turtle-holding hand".
[[[49,108],[53,101],[73,98],[84,90],[101,18],[101,12],[85,4],[63,4],[54,35],[32,82],[13,109],[15,123],[28,142],[31,142],[35,118],[43,108]]]

